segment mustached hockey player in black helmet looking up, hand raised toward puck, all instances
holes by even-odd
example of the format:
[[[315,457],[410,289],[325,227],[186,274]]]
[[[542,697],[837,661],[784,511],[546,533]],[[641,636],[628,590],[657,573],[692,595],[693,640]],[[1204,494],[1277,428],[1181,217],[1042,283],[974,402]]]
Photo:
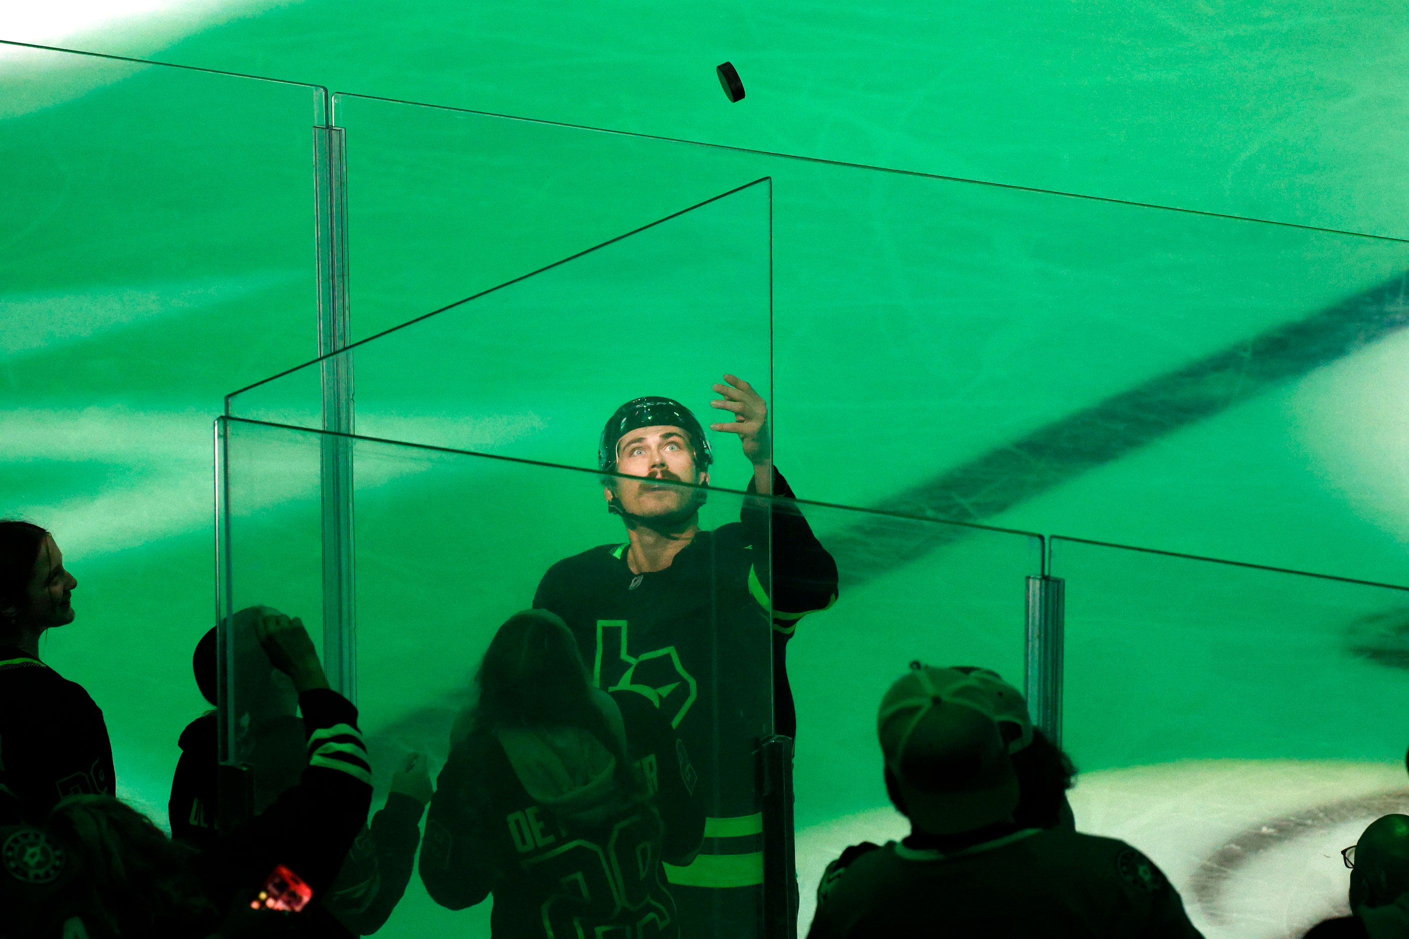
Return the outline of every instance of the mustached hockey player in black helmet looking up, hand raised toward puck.
[[[766,404],[743,379],[713,386],[752,463],[750,493],[792,498],[774,469]],[[572,629],[599,688],[655,701],[697,767],[704,847],[668,866],[683,933],[755,935],[762,902],[757,750],[769,732],[793,736],[785,648],[797,621],[837,598],[837,565],[795,505],[745,501],[740,522],[702,531],[713,462],[699,421],[661,397],[623,404],[597,446],[607,510],[624,543],[554,565],[534,605]],[[771,662],[771,664],[769,664]],[[693,781],[693,780],[692,780]]]

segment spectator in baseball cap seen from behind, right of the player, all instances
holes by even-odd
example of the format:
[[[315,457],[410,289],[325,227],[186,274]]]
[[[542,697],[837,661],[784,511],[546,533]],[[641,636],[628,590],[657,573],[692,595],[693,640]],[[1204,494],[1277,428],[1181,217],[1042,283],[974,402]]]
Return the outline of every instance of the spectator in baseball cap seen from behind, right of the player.
[[[886,691],[876,719],[886,793],[912,832],[848,847],[827,867],[809,939],[941,926],[955,936],[1199,936],[1179,894],[1130,845],[1019,826],[1010,755],[1030,743],[1031,725],[1014,719],[1022,697],[1006,684],[1012,694],[996,694],[995,679],[913,663]]]

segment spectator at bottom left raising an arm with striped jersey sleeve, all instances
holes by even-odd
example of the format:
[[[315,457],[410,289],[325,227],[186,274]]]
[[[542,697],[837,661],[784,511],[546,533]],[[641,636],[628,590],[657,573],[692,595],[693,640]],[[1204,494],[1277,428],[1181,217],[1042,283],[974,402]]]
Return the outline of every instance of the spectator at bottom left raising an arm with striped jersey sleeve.
[[[0,881],[7,891],[0,894],[7,914],[0,935],[204,939],[217,926],[227,932],[221,918],[234,911],[241,935],[271,936],[292,926],[306,938],[347,936],[321,895],[371,800],[356,708],[328,690],[303,624],[269,611],[258,618],[255,632],[299,694],[310,752],[299,783],[248,824],[221,832],[201,849],[168,839],[144,815],[107,795],[65,798],[44,829],[0,831],[8,876]],[[251,926],[251,897],[280,864],[307,881],[313,901],[296,916],[256,918]]]

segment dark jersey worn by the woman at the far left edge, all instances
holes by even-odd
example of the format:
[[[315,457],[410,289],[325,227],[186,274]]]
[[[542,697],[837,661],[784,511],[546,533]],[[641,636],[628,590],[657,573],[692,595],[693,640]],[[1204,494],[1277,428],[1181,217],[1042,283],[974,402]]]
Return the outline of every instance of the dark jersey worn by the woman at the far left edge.
[[[0,646],[0,784],[42,817],[65,795],[113,795],[113,745],[83,686]]]

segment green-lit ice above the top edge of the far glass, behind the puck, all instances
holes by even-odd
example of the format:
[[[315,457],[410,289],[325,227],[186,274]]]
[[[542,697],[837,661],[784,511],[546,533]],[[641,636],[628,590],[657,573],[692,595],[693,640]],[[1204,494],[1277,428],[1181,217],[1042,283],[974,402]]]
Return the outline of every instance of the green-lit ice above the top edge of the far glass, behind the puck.
[[[175,20],[76,41],[341,92],[1409,234],[1409,27],[1392,0],[221,13],[194,34]],[[714,77],[724,61],[748,92],[737,104]]]

